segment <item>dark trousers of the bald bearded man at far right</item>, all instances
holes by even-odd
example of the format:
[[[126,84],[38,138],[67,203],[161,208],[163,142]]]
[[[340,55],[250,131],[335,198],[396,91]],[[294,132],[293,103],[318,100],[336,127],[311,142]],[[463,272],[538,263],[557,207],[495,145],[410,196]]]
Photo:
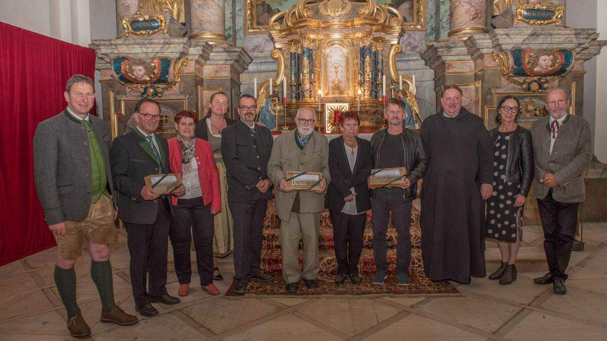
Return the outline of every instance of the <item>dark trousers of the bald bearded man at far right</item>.
[[[567,279],[571,248],[577,227],[577,207],[580,203],[560,203],[552,198],[552,189],[543,199],[537,200],[541,226],[544,229],[544,251],[550,274]]]

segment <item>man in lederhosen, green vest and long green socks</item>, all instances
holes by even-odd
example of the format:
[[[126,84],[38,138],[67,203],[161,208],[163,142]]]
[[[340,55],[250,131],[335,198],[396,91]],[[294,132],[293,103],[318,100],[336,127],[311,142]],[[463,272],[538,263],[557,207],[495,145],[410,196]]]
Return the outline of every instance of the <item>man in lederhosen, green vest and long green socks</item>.
[[[89,115],[93,81],[73,75],[66,84],[67,108],[42,121],[34,135],[34,178],[46,223],[57,240],[55,284],[67,309],[67,329],[87,337],[90,328],[76,303],[76,258],[86,235],[90,275],[101,297],[101,322],[137,323],[114,302],[109,243],[116,240],[117,192],[112,187],[106,124]]]

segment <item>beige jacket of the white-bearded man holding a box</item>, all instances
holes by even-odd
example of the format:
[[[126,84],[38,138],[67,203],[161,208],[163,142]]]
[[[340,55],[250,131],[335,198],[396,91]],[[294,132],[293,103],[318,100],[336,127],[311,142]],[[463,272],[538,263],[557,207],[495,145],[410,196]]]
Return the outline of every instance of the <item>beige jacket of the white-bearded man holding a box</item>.
[[[300,150],[295,142],[296,130],[280,134],[274,140],[270,161],[268,161],[268,177],[276,188],[276,212],[280,219],[289,221],[296,191],[283,192],[278,189],[279,181],[285,178],[288,170],[321,172],[322,177],[331,181],[329,175],[329,141],[325,135],[313,132],[304,150]],[[299,212],[320,212],[325,206],[325,194],[312,191],[299,191]]]

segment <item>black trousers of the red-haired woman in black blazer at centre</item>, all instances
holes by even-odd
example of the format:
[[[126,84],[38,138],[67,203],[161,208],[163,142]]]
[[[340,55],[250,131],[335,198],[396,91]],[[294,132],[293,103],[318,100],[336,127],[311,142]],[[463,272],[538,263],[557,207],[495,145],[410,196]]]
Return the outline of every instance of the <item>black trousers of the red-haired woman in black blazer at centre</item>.
[[[333,243],[337,274],[358,274],[358,262],[361,260],[362,235],[365,231],[367,213],[345,214],[330,210],[333,221]]]

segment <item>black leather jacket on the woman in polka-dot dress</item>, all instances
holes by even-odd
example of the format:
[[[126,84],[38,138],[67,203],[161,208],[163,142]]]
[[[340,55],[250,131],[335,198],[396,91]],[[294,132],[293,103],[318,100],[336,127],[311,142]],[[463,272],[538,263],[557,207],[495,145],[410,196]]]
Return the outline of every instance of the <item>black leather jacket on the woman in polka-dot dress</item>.
[[[489,130],[491,146],[497,141],[498,128]],[[531,132],[517,126],[510,136],[508,143],[508,157],[506,159],[506,178],[504,182],[520,183],[518,194],[527,196],[535,170],[533,156],[533,141]]]

